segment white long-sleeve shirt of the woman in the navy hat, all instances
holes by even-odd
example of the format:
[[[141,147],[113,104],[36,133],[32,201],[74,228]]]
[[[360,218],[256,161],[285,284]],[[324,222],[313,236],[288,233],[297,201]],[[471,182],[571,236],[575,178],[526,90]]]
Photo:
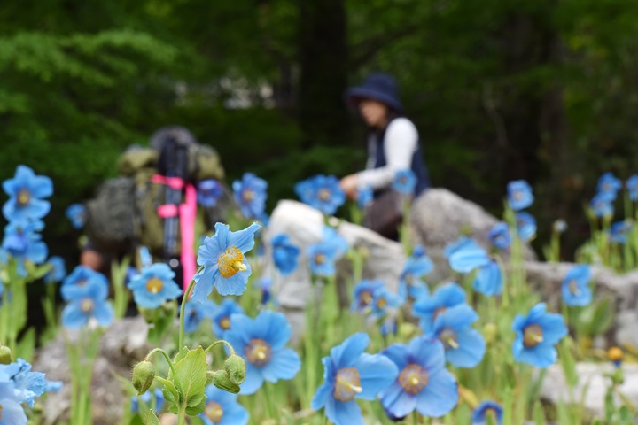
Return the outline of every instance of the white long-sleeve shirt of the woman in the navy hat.
[[[366,169],[357,173],[360,187],[370,186],[373,190],[389,187],[399,170],[412,166],[412,157],[418,145],[418,132],[412,121],[396,118],[385,130],[385,166],[375,168],[377,162],[377,135],[368,138],[368,162]]]

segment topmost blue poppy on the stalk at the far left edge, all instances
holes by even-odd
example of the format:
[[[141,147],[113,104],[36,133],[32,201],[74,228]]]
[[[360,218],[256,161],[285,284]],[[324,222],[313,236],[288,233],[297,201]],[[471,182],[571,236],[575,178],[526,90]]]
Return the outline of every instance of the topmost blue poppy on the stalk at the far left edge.
[[[35,175],[28,166],[18,166],[12,179],[3,182],[9,200],[3,205],[4,218],[9,221],[42,219],[51,209],[43,200],[53,194],[53,182],[44,175]]]

